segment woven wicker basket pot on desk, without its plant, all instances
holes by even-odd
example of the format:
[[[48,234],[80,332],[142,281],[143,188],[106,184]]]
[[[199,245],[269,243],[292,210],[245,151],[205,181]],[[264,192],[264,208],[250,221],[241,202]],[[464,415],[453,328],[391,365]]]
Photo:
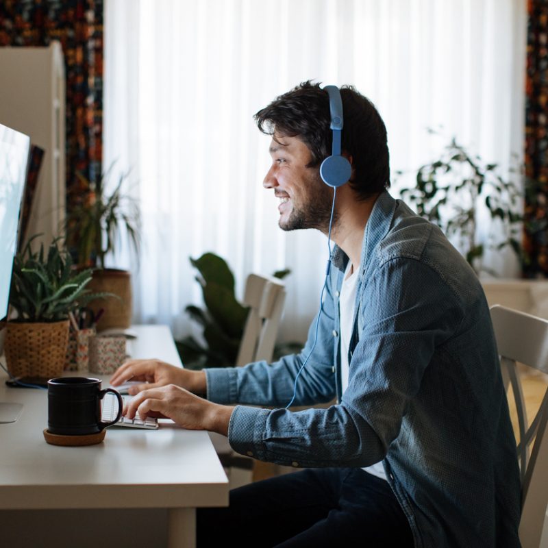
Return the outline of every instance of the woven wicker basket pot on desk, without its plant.
[[[14,377],[51,378],[62,375],[69,343],[69,321],[8,322],[5,360]]]

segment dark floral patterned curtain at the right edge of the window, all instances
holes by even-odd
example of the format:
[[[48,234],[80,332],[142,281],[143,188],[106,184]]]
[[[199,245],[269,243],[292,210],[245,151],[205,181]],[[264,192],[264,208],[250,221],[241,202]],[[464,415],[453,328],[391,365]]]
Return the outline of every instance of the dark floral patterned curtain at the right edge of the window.
[[[548,275],[548,0],[529,0],[525,112],[526,277]]]

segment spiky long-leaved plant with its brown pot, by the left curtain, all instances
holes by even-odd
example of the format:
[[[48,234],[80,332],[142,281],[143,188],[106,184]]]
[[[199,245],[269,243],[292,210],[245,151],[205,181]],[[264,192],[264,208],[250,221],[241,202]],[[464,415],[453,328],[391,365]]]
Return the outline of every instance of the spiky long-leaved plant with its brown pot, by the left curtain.
[[[108,192],[108,173],[97,182],[78,174],[83,198],[66,216],[66,242],[80,268],[92,268],[90,288],[110,292],[116,297],[95,304],[95,312],[103,308],[98,329],[129,327],[132,319],[132,286],[129,272],[105,268],[105,258],[115,253],[123,233],[136,256],[140,245],[140,210],[135,199],[122,191],[125,175],[121,175],[112,192]]]

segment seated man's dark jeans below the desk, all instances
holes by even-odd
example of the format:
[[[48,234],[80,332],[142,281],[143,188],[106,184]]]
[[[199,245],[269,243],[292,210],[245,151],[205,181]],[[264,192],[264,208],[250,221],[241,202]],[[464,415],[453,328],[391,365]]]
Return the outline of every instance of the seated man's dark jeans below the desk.
[[[412,547],[390,486],[362,469],[307,469],[230,492],[228,508],[199,508],[197,545]]]

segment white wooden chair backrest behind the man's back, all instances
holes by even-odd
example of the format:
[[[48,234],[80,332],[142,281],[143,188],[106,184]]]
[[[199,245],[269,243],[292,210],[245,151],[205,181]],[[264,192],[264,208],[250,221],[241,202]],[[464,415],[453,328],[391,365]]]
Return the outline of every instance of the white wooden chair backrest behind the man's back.
[[[538,548],[548,503],[548,390],[532,421],[527,421],[517,364],[548,373],[548,321],[503,306],[491,307],[504,386],[512,385],[519,427],[523,548]]]

